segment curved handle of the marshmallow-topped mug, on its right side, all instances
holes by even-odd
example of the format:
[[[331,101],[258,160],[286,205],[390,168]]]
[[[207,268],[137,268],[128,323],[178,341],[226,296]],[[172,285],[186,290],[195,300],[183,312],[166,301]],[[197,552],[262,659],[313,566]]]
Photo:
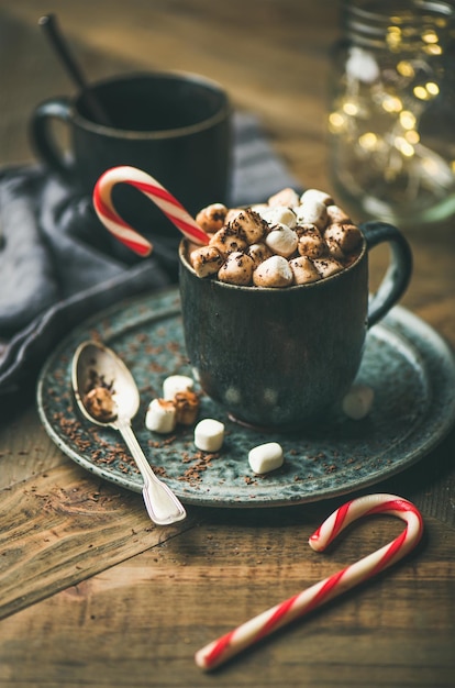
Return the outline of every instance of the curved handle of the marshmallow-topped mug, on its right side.
[[[404,236],[387,222],[365,222],[360,224],[367,251],[388,242],[391,249],[390,264],[368,304],[368,329],[376,324],[404,293],[412,274],[411,247]]]

